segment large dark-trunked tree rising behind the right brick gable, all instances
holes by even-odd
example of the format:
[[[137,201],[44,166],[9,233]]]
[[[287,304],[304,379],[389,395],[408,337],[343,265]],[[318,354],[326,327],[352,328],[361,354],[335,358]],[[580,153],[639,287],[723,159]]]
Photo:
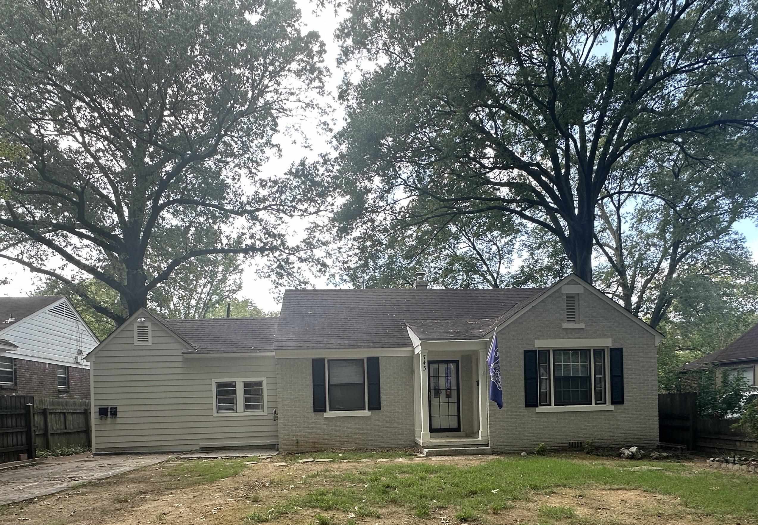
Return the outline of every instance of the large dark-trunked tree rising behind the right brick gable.
[[[371,64],[346,76],[337,135],[343,217],[357,223],[377,207],[398,228],[513,214],[555,236],[591,282],[616,167],[654,145],[756,127],[755,2],[346,5],[343,63]],[[418,214],[415,198],[436,206]]]

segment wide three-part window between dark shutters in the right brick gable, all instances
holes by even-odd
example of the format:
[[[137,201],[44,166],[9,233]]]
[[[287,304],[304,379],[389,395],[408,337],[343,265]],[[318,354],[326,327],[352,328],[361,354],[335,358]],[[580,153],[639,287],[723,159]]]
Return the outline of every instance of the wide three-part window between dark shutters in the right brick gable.
[[[537,351],[540,407],[607,405],[609,348]]]

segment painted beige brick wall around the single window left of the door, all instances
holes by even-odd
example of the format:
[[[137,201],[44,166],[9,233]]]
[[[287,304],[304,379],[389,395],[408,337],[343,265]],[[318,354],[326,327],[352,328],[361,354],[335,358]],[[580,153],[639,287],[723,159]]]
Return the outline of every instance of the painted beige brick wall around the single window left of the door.
[[[379,373],[381,411],[371,411],[370,416],[324,417],[313,411],[311,358],[277,359],[280,450],[413,446],[412,358],[381,357]]]

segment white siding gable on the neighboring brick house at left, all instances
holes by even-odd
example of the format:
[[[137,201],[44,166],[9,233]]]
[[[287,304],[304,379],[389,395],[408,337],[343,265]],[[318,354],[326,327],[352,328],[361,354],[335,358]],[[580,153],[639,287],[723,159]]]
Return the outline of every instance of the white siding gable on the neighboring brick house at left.
[[[55,304],[50,305],[49,308]],[[8,339],[19,348],[8,352],[0,351],[0,355],[43,363],[64,364],[68,367],[89,368],[86,361],[77,365],[75,361],[77,349],[81,348],[83,356],[87,355],[92,348],[97,346],[96,339],[81,321],[53,314],[49,308],[48,311],[15,323],[3,332],[0,337]]]

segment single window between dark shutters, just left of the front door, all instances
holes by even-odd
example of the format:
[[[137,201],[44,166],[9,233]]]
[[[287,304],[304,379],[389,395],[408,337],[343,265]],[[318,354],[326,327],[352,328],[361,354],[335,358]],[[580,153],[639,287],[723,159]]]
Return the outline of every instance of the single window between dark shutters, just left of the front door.
[[[327,359],[327,412],[365,411],[366,360]]]

